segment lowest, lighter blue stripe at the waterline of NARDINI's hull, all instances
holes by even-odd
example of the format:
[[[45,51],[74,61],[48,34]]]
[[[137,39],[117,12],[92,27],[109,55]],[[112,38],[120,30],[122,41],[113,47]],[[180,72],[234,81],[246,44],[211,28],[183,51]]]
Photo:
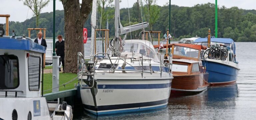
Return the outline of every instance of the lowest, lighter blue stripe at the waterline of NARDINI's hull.
[[[92,111],[88,111],[94,115],[110,115],[110,114],[118,114],[118,113],[129,113],[129,112],[140,112],[140,111],[148,111],[148,110],[155,110],[155,109],[161,109],[161,108],[165,108],[167,107],[166,105],[161,105],[161,106],[156,106],[156,107],[149,107],[149,108],[139,108],[139,109],[130,109],[130,110],[118,110],[118,111],[109,111],[109,112],[92,112]]]

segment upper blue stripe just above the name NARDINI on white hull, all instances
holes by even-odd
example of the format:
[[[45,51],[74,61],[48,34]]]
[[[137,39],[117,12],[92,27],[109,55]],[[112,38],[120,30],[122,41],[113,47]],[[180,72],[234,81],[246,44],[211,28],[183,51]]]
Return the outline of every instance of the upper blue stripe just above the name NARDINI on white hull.
[[[169,88],[172,82],[164,84],[115,84],[115,85],[97,85],[98,89],[159,89],[159,88]],[[88,85],[82,85],[83,87],[88,87]],[[83,89],[83,88],[81,88]]]

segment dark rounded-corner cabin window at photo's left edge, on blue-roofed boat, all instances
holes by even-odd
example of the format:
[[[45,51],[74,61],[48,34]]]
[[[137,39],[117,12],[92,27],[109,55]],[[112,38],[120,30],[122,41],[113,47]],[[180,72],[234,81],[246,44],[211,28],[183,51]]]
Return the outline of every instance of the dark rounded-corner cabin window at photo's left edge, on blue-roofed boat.
[[[15,55],[0,55],[0,89],[19,86],[19,60]]]

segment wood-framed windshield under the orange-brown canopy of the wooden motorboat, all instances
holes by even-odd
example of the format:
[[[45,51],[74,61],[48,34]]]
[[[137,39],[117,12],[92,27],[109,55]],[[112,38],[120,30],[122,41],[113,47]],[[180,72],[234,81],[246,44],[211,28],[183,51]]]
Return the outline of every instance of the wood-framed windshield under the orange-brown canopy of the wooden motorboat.
[[[198,58],[199,50],[182,47],[182,46],[174,46],[174,55],[180,55],[180,56],[186,56],[186,57],[192,57],[192,58]]]

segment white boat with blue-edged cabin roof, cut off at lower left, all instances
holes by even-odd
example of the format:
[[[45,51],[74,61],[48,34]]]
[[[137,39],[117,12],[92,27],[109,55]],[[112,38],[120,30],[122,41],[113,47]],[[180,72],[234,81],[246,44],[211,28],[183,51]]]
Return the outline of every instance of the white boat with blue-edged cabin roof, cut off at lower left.
[[[71,106],[41,97],[43,53],[30,38],[0,35],[0,120],[72,119]]]

